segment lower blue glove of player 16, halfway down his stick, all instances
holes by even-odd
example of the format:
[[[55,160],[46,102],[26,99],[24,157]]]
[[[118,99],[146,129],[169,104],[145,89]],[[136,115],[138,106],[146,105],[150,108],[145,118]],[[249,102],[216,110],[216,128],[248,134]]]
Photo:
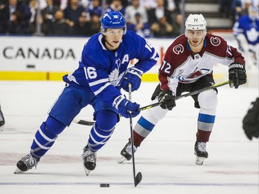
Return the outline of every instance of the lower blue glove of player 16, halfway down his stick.
[[[140,104],[128,101],[123,95],[120,95],[113,101],[113,106],[119,110],[119,114],[126,118],[130,117],[130,114],[132,117],[140,114]]]

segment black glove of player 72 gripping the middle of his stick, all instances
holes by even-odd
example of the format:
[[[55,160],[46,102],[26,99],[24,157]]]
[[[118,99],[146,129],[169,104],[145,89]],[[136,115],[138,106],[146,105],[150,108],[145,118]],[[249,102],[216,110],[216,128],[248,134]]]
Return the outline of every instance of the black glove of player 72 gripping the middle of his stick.
[[[175,94],[171,90],[162,91],[158,97],[161,108],[172,110],[175,104]]]

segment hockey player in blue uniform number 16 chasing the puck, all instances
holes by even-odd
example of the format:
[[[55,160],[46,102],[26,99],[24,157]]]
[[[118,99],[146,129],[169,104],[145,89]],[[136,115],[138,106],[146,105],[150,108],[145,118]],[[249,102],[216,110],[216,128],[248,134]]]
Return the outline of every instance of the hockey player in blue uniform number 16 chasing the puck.
[[[93,106],[95,124],[90,130],[88,144],[82,158],[86,175],[96,166],[96,153],[108,142],[119,114],[128,118],[140,113],[140,105],[128,101],[121,88],[132,91],[141,84],[144,72],[158,59],[157,52],[145,39],[126,31],[126,21],[120,12],[106,12],[102,17],[101,33],[90,37],[84,45],[75,72],[63,77],[66,86],[52,106],[30,147],[30,153],[17,162],[15,173],[23,173],[36,166],[51,148],[59,133],[69,126],[87,105]],[[138,59],[128,68],[131,59]]]

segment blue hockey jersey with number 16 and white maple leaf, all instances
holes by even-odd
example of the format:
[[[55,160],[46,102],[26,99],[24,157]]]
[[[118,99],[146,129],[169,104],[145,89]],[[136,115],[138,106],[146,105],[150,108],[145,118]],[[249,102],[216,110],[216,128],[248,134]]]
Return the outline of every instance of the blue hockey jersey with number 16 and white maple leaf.
[[[120,84],[131,59],[138,59],[135,68],[146,72],[156,64],[158,54],[146,39],[130,31],[126,32],[117,50],[108,50],[99,33],[84,45],[79,68],[65,75],[63,80],[84,86],[111,105],[116,97],[122,95]]]

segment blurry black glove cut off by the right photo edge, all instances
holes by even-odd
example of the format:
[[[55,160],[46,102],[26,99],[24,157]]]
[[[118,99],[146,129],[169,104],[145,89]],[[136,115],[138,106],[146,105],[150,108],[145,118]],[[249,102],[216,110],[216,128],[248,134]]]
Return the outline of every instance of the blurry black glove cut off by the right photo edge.
[[[247,111],[243,119],[243,129],[248,139],[259,136],[259,98],[252,102],[253,106]]]

